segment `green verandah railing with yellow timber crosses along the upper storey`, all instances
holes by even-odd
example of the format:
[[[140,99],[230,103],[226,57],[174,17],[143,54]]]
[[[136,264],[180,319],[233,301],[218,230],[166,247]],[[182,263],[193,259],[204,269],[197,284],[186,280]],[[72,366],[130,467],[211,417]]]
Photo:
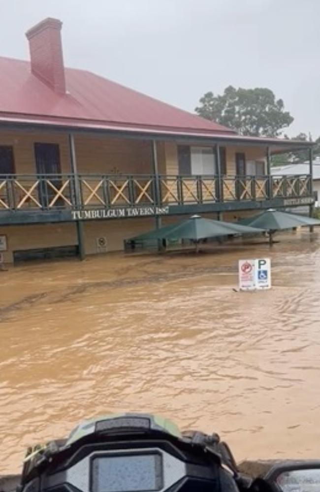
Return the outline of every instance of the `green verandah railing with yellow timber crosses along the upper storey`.
[[[311,176],[0,175],[3,210],[117,208],[311,196]]]

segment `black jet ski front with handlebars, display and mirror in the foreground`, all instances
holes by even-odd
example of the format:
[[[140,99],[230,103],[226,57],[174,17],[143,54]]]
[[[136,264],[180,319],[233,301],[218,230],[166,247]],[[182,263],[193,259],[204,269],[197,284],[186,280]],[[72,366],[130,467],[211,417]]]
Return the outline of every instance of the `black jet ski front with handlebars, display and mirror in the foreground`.
[[[66,439],[29,448],[0,492],[315,492],[320,461],[236,464],[218,434],[181,432],[149,414],[80,423]]]

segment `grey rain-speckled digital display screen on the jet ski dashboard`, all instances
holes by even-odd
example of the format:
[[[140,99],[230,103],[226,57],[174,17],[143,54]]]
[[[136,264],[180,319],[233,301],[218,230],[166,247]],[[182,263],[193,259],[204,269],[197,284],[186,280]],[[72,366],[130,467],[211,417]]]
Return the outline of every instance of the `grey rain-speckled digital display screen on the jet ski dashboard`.
[[[94,492],[143,492],[162,488],[158,454],[101,456],[93,461]]]

